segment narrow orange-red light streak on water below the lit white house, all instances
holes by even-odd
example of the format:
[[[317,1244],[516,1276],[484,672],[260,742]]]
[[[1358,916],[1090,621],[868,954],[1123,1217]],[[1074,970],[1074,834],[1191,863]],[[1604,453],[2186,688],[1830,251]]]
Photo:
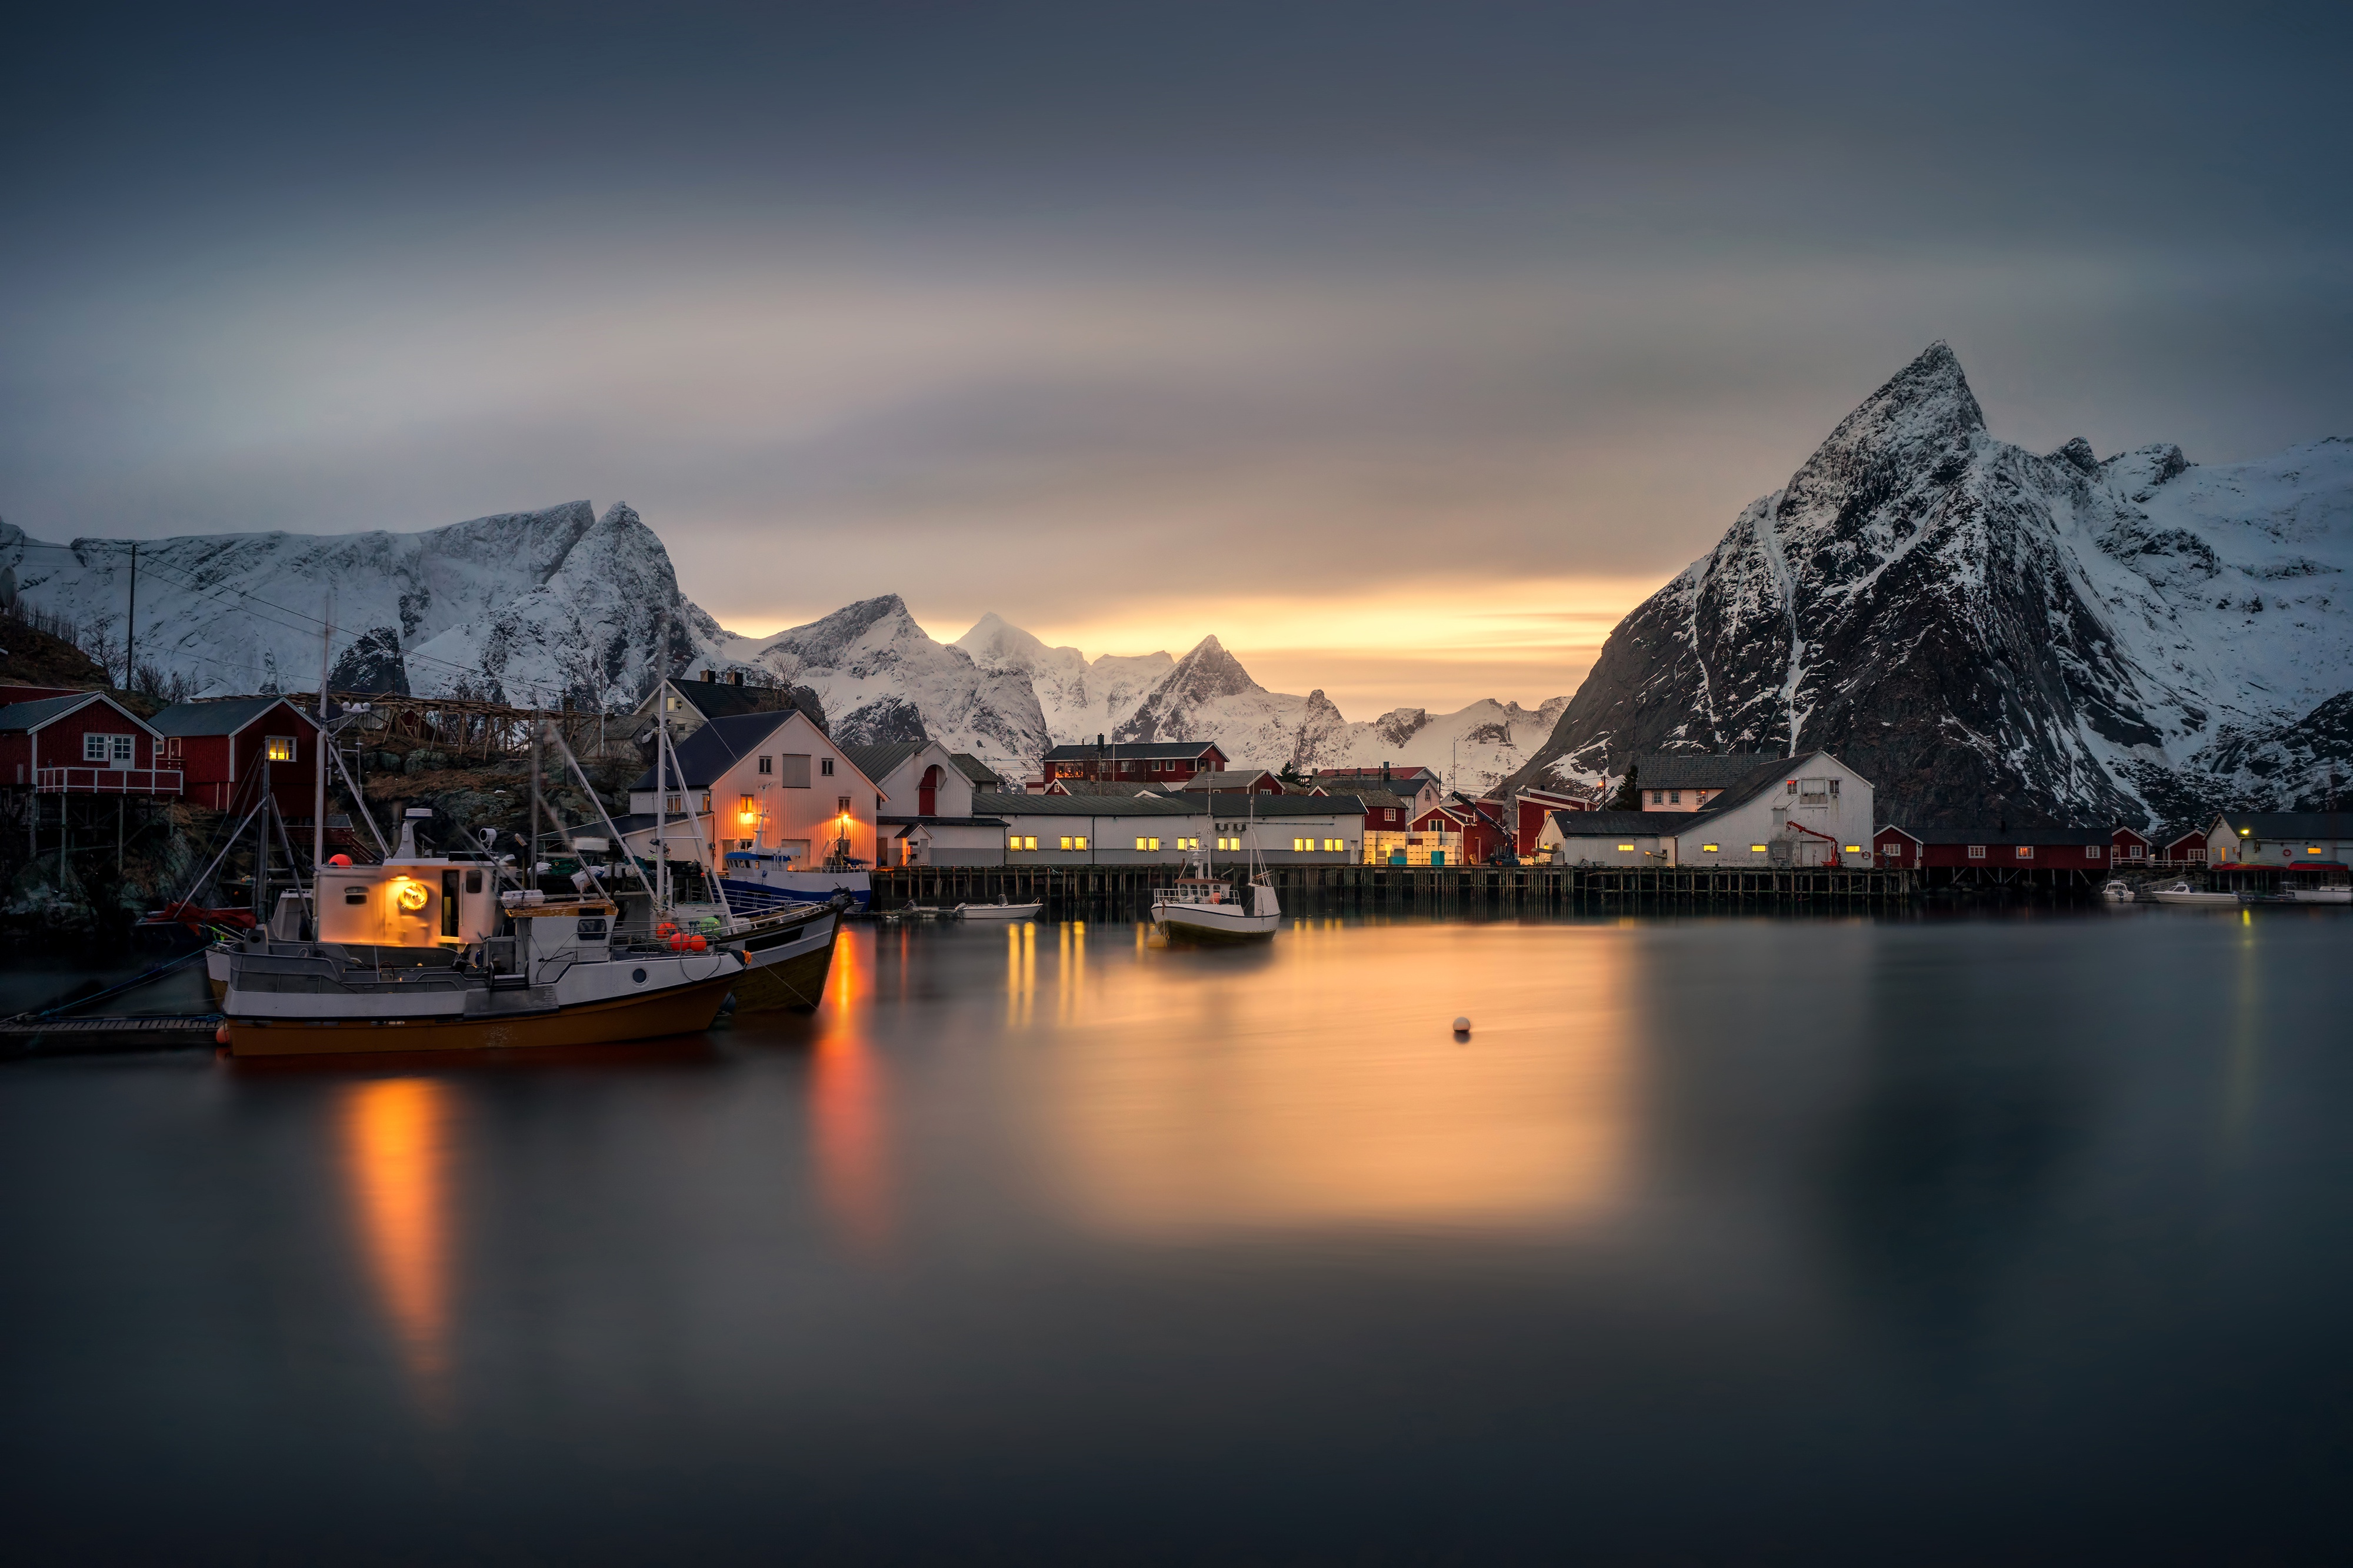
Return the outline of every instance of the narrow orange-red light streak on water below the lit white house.
[[[809,1057],[809,1121],[816,1191],[842,1241],[878,1253],[892,1236],[885,1083],[868,1036],[875,989],[875,932],[842,932],[819,1008]],[[904,975],[901,965],[901,975]]]

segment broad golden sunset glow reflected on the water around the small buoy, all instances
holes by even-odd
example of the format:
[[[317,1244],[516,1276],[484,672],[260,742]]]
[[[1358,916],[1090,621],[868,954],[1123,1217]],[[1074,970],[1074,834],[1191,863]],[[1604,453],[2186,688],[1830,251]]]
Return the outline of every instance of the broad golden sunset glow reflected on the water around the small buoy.
[[[1633,1163],[1638,954],[1598,928],[1318,921],[1259,951],[1151,944],[1111,977],[1059,946],[1052,1187],[1129,1234],[1600,1220]]]

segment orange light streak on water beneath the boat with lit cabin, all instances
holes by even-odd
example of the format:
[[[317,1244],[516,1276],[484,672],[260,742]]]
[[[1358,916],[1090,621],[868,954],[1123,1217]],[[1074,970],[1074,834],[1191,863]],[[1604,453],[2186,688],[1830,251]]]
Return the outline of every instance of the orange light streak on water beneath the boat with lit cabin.
[[[428,1410],[449,1387],[449,1090],[431,1078],[355,1083],[344,1151],[376,1297]]]

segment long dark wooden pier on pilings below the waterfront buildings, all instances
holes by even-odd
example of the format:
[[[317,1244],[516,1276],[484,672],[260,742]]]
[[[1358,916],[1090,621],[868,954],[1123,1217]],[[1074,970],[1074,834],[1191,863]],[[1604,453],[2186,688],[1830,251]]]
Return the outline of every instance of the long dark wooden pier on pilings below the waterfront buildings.
[[[1920,892],[1918,871],[1711,866],[1268,866],[1287,913],[1506,913],[1692,904],[1713,909],[1885,906]],[[1047,916],[1144,918],[1179,866],[892,866],[873,873],[878,913],[906,904],[1040,902]]]

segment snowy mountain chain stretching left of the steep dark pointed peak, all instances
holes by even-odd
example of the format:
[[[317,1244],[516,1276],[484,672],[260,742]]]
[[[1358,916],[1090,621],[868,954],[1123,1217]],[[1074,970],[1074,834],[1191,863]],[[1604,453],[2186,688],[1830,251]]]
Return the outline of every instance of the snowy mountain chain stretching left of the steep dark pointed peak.
[[[45,544],[0,523],[0,570],[120,659],[132,542]],[[769,638],[722,629],[678,591],[628,506],[499,513],[419,534],[186,534],[139,542],[136,657],[198,695],[315,690],[334,617],[336,690],[633,704],[668,669],[746,671],[814,690],[840,739],[932,735],[1014,772],[1059,742],[1217,739],[1235,763],[1428,765],[1480,789],[1513,772],[1567,706],[1478,702],[1348,723],[1322,692],[1268,692],[1202,638],[1167,652],[1047,647],[995,614],[939,643],[889,593]]]

